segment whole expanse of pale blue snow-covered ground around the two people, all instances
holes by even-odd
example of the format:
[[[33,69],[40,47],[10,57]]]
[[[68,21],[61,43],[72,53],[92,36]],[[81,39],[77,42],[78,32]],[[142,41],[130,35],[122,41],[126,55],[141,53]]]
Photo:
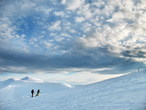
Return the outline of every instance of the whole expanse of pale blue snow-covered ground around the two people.
[[[146,110],[146,72],[72,88],[65,85],[10,81],[0,89],[0,110]],[[41,95],[30,97],[32,88],[40,89]]]

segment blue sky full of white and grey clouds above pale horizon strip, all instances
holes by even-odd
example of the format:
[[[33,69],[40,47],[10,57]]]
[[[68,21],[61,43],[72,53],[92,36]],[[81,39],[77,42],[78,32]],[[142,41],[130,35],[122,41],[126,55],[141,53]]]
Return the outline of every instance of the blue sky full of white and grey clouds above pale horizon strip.
[[[146,67],[145,0],[0,0],[1,75],[138,67]]]

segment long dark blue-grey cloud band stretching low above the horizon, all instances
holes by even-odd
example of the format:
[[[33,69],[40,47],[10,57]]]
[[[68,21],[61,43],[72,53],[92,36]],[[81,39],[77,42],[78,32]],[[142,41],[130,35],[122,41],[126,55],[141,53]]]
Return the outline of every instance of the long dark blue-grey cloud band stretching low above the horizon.
[[[37,70],[51,71],[59,68],[117,68],[115,70],[118,72],[111,71],[111,74],[113,74],[119,73],[119,70],[125,71],[133,67],[135,68],[136,62],[126,61],[123,58],[118,58],[113,55],[111,56],[109,52],[106,53],[107,49],[105,48],[101,50],[88,49],[86,50],[86,54],[79,53],[76,50],[69,54],[47,56],[0,49],[0,66],[3,68],[1,72],[11,71],[23,73],[25,71],[34,72]],[[9,70],[11,67],[15,67],[15,69]],[[25,68],[25,70],[19,68]],[[106,72],[103,71],[103,73]]]

